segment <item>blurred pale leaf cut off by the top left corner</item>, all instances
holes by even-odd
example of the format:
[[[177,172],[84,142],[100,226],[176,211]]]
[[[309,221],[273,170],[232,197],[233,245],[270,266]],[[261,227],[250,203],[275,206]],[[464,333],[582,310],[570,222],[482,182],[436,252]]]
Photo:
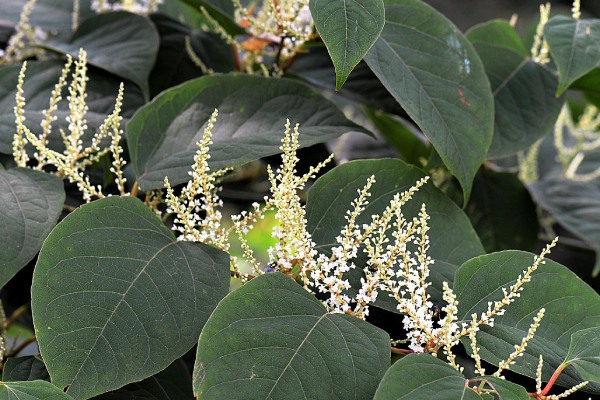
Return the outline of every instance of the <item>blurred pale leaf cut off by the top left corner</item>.
[[[28,0],[2,0],[0,15],[3,20],[17,25],[21,11]],[[79,21],[94,15],[90,8],[91,0],[79,1]],[[33,6],[29,23],[31,26],[51,32],[70,32],[73,24],[73,0],[37,0]]]

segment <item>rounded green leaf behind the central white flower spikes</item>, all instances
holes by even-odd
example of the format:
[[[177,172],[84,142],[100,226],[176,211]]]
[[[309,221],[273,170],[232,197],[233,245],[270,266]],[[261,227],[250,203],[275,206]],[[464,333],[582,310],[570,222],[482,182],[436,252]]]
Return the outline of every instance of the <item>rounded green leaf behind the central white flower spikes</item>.
[[[310,188],[306,205],[308,230],[321,251],[337,245],[336,237],[346,224],[346,210],[351,208],[357,191],[375,175],[377,182],[371,188],[369,204],[359,223],[371,221],[371,215],[380,214],[393,196],[407,190],[425,176],[420,169],[400,160],[361,160],[342,164],[320,177]],[[481,242],[467,216],[433,183],[427,183],[403,209],[406,218],[416,216],[425,203],[429,220],[430,249],[435,260],[431,266],[431,295],[434,301],[442,299],[442,282],[450,284],[458,265],[484,253]],[[356,262],[363,268],[360,260]],[[379,296],[376,305],[395,310],[396,305],[387,296]]]

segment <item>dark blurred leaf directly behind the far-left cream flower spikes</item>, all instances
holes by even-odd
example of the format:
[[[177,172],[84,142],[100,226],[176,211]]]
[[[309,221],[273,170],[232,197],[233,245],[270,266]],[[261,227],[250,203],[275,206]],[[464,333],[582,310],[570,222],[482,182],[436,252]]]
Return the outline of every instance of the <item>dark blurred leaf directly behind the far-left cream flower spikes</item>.
[[[25,124],[35,134],[41,132],[40,122],[44,119],[43,110],[48,109],[50,94],[58,82],[63,61],[28,61],[25,73],[24,96],[27,101],[25,107]],[[71,68],[73,69],[73,68]],[[0,152],[12,154],[12,139],[15,133],[15,94],[17,92],[17,78],[21,65],[0,68]],[[119,91],[119,80],[114,75],[104,71],[91,69],[88,71],[90,78],[87,84],[86,114],[88,134],[84,135],[84,145],[89,143],[95,129],[97,129],[107,115],[115,107],[115,99]],[[70,82],[70,79],[68,80]],[[50,134],[50,147],[53,149],[64,148],[59,130],[68,132],[69,105],[66,100],[68,91],[62,93],[63,101],[59,103],[58,110],[54,113],[57,120],[52,124]],[[125,85],[123,96],[122,115],[130,117],[135,110],[144,104],[141,90],[134,84]],[[61,147],[62,146],[62,147]]]

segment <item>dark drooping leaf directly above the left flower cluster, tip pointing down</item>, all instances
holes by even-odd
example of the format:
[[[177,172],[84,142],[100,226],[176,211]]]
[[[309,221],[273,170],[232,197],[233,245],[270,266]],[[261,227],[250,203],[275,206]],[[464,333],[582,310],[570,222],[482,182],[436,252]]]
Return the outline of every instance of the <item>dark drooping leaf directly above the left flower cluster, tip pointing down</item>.
[[[82,21],[68,41],[53,39],[48,47],[75,58],[84,49],[89,65],[130,80],[148,97],[148,76],[158,44],[158,33],[148,18],[110,12]]]

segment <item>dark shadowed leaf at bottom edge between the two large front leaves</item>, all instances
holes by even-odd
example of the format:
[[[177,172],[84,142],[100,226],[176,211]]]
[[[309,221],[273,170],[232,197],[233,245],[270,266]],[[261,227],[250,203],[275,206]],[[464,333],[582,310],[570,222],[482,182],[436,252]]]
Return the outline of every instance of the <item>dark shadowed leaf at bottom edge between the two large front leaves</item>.
[[[93,400],[193,400],[192,376],[181,359],[156,375]]]

